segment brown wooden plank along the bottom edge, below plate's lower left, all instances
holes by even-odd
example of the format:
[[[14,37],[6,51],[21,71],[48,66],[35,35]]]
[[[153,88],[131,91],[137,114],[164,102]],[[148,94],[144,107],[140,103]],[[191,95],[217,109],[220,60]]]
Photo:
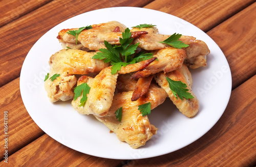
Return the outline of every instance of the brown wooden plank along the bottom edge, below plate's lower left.
[[[99,158],[72,150],[45,134],[8,157],[10,166],[118,166],[122,160]],[[4,166],[4,161],[0,166]]]

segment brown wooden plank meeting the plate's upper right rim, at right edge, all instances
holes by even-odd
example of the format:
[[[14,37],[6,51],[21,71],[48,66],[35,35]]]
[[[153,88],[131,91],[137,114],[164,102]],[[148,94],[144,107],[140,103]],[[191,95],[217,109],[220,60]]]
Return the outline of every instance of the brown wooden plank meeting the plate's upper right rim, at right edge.
[[[236,88],[256,74],[256,3],[218,25],[207,34],[224,52]],[[246,18],[246,19],[245,19]]]

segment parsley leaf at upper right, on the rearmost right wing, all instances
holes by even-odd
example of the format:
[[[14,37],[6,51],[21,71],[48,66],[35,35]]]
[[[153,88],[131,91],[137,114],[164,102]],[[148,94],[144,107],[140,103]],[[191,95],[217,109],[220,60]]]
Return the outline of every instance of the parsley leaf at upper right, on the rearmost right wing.
[[[179,41],[181,37],[181,34],[176,34],[174,33],[170,37],[168,37],[166,40],[160,42],[160,43],[165,43],[169,46],[181,49],[182,47],[188,47],[189,45],[182,43],[182,41]]]

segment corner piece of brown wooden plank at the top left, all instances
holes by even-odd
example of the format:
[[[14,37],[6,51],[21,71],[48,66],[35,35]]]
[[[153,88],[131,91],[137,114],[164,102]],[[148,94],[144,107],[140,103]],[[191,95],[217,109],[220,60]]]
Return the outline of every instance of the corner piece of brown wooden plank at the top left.
[[[44,6],[52,0],[3,0],[1,1],[0,27]]]

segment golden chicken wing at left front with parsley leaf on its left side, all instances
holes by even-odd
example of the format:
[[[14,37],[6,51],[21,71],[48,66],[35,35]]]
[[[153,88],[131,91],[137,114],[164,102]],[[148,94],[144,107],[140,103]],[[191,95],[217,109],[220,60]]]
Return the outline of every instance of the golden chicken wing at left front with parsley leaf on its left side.
[[[72,101],[72,106],[79,114],[93,114],[100,117],[108,114],[116,88],[117,76],[118,74],[111,74],[111,66],[101,70],[94,78],[81,76],[77,81],[77,86],[87,83],[91,89],[87,94],[88,98],[84,106],[79,106],[82,94]]]

